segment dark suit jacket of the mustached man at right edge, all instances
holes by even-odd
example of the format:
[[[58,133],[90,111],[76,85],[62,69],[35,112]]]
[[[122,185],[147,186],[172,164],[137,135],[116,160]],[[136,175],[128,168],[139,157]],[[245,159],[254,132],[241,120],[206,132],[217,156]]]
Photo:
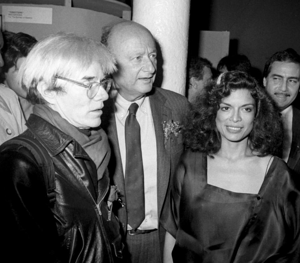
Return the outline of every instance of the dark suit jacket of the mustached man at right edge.
[[[287,159],[287,166],[300,175],[300,110],[293,107],[292,147]]]

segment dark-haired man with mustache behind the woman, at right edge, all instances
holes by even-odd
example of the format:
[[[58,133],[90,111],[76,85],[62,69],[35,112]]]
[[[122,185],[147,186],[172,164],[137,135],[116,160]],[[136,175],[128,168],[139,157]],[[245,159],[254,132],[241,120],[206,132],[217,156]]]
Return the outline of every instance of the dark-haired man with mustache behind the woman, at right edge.
[[[277,104],[284,130],[282,159],[300,173],[300,111],[292,106],[300,85],[300,56],[292,48],[276,52],[267,61],[263,85]]]

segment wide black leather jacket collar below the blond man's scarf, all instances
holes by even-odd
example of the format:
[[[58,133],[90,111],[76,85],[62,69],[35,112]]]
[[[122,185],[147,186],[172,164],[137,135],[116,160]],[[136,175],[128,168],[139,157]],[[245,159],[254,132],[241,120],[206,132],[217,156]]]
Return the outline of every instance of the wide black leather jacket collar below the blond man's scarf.
[[[50,155],[56,156],[73,141],[73,156],[89,159],[88,154],[82,150],[82,147],[71,136],[65,134],[41,117],[31,114],[27,120],[26,126],[37,140],[47,149]]]

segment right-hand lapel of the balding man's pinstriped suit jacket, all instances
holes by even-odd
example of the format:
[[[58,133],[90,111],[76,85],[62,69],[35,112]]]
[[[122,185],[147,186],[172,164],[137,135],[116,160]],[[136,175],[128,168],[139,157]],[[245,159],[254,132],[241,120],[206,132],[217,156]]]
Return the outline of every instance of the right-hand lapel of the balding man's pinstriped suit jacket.
[[[151,113],[153,118],[156,151],[157,151],[157,196],[158,196],[158,218],[163,206],[164,197],[167,192],[170,176],[170,148],[164,145],[163,121],[172,118],[172,111],[165,106],[166,98],[154,91],[149,95]]]

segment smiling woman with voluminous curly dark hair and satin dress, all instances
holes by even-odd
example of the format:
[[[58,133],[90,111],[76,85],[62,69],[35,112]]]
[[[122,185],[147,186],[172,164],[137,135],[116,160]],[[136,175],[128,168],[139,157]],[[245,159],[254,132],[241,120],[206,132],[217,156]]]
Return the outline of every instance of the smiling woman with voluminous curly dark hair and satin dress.
[[[272,155],[282,125],[257,81],[221,74],[195,101],[183,138],[161,218],[164,262],[299,262],[300,191]]]

